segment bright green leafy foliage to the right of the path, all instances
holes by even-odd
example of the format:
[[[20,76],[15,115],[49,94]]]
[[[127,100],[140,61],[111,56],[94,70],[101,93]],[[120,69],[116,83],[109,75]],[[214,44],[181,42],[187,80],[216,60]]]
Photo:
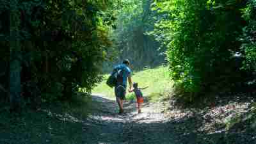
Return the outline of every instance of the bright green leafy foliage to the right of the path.
[[[244,1],[155,1],[162,16],[154,35],[163,45],[175,86],[189,101],[202,92],[220,90],[234,81],[239,68],[234,54],[241,52]]]

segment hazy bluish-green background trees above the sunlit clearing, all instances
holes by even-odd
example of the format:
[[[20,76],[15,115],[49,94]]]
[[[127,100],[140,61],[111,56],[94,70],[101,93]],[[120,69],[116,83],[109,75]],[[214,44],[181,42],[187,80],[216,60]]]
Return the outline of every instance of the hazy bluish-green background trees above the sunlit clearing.
[[[159,50],[159,43],[148,35],[157,20],[150,4],[152,0],[121,1],[120,9],[116,10],[116,29],[112,36],[119,52],[117,59],[129,58],[134,68],[156,66],[164,61],[161,55],[164,50]]]

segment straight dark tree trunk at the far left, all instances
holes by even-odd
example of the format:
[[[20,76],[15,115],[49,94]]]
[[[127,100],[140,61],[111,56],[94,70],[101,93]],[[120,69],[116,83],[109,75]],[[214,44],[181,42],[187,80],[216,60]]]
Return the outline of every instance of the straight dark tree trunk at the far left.
[[[18,9],[18,1],[12,0],[10,7],[10,105],[11,111],[19,111],[21,54],[19,40],[20,12]]]

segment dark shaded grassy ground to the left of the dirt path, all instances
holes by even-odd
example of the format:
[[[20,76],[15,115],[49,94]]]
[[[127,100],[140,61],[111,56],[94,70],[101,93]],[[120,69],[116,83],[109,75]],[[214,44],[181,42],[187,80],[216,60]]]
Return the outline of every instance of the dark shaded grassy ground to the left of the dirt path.
[[[42,104],[40,110],[23,108],[20,116],[2,110],[0,143],[85,143],[82,120],[90,113],[90,100],[74,97],[71,102]]]

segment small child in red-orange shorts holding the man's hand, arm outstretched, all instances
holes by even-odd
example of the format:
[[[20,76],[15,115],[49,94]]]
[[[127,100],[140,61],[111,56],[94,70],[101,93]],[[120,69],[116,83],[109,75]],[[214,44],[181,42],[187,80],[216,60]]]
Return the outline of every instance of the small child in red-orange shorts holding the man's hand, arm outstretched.
[[[138,103],[138,113],[141,113],[141,104],[143,103],[143,95],[141,90],[144,90],[145,88],[148,88],[146,86],[145,88],[138,88],[138,83],[133,83],[133,90],[129,90],[129,92],[134,92],[137,98],[137,103]]]

